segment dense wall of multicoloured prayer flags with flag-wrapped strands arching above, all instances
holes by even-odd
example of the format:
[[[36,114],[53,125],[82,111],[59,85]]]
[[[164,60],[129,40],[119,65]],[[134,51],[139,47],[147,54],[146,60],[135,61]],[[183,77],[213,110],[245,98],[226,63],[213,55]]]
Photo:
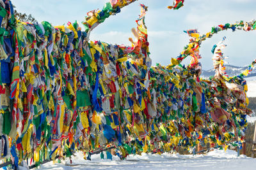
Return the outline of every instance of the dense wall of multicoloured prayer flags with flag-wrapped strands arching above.
[[[131,46],[89,41],[92,29],[134,1],[111,0],[90,11],[81,31],[77,22],[67,27],[20,22],[12,2],[0,0],[1,159],[12,158],[16,167],[31,159],[38,166],[44,157],[70,157],[76,150],[91,159],[93,150],[115,146],[107,158],[125,159],[179,146],[192,152],[197,143],[243,141],[251,113],[243,76],[255,61],[242,75],[223,78],[219,43],[213,50],[216,76],[202,80],[199,47],[225,29],[253,30],[255,22],[219,25],[203,36],[187,31],[186,50],[170,66],[152,66],[143,4]],[[183,3],[175,1],[173,9]],[[191,64],[182,66],[189,55]]]

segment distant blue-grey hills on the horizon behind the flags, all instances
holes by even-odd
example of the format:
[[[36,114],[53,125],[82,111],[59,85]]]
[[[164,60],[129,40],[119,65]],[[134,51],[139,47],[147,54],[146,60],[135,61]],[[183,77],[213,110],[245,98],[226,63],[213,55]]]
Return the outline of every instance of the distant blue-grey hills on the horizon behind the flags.
[[[227,71],[227,74],[228,76],[237,76],[239,74],[241,74],[246,68],[246,67],[237,67],[237,66],[231,66],[231,65],[225,65],[226,67],[226,71]],[[209,70],[203,70],[202,71],[202,74],[201,76],[203,78],[209,78],[210,76],[214,76],[215,74],[215,70],[212,68],[212,69],[209,69]],[[252,70],[252,73],[248,75],[248,77],[251,77],[251,76],[256,76],[256,70]]]

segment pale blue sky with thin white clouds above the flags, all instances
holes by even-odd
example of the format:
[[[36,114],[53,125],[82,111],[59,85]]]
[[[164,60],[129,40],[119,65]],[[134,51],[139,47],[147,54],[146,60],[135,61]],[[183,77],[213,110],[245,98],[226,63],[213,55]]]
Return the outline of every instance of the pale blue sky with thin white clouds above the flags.
[[[81,23],[86,13],[102,9],[107,0],[13,0],[16,10],[33,15],[41,21],[52,25],[67,25],[67,22]],[[237,20],[256,19],[255,0],[185,0],[180,10],[169,10],[173,0],[138,0],[122,9],[121,13],[109,17],[103,24],[93,30],[90,40],[100,40],[112,44],[131,45],[129,37],[136,27],[135,20],[140,15],[140,3],[148,6],[146,25],[150,43],[150,57],[153,64],[162,66],[170,64],[172,57],[179,56],[184,46],[189,43],[188,29],[198,29],[201,34],[211,31],[211,27],[220,24],[233,24]],[[82,24],[80,24],[83,27]],[[227,48],[223,50],[228,56],[225,61],[234,66],[248,66],[256,59],[256,31],[222,31],[211,39],[204,41],[200,48],[203,69],[212,68],[212,46],[223,36],[227,39]],[[186,59],[182,64],[187,64]]]

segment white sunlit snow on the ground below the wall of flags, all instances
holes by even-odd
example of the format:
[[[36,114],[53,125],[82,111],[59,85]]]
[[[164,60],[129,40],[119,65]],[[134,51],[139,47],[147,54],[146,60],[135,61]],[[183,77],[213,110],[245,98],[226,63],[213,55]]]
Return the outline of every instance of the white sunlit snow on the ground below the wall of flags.
[[[256,159],[241,155],[233,150],[213,150],[205,155],[179,155],[163,153],[130,155],[127,160],[120,160],[113,156],[113,160],[100,159],[100,155],[92,155],[92,161],[84,160],[83,153],[66,159],[61,164],[49,162],[40,169],[256,169]],[[106,155],[105,155],[106,157]]]

